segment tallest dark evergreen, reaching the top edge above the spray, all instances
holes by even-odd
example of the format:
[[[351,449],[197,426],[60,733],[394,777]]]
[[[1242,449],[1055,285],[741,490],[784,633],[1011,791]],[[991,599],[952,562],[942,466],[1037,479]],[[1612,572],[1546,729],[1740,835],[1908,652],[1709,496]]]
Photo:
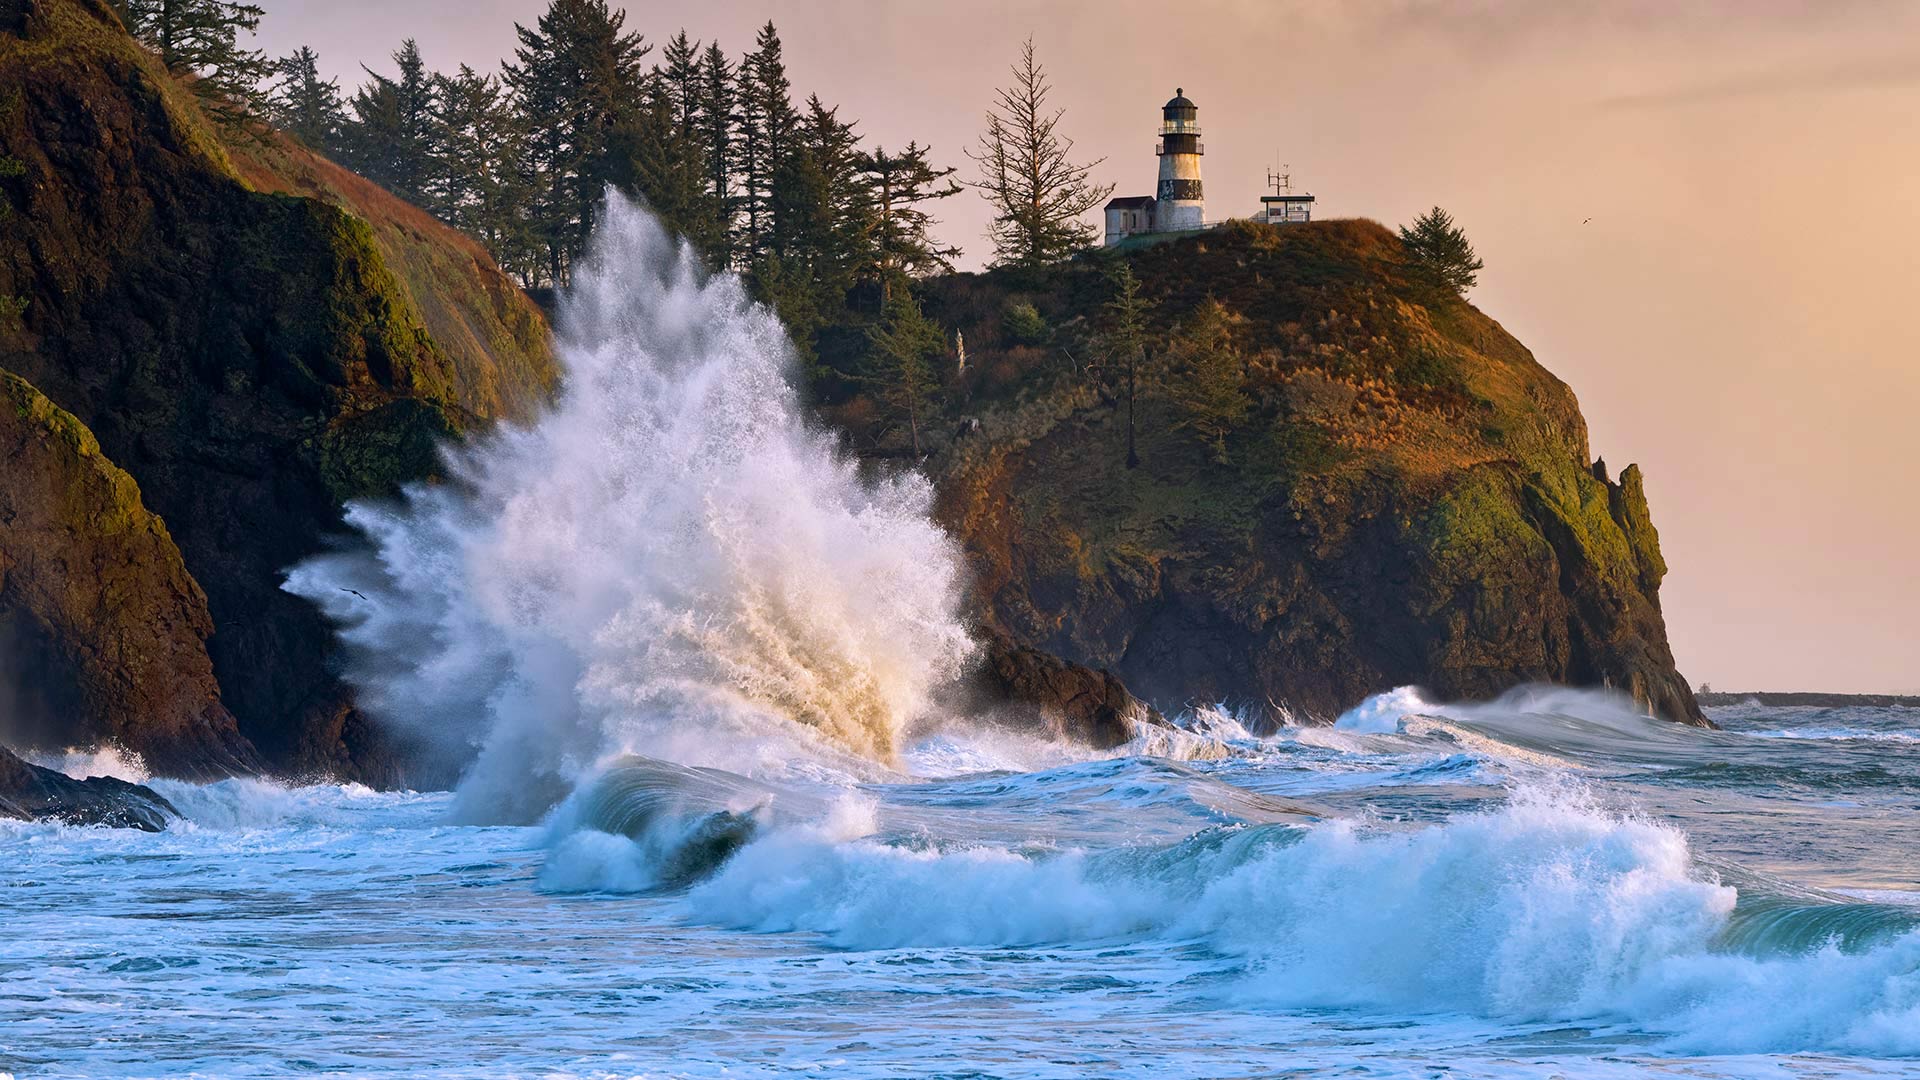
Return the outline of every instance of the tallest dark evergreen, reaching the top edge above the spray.
[[[515,25],[520,44],[505,81],[528,133],[530,213],[553,284],[593,233],[616,171],[612,133],[643,100],[639,61],[653,46],[624,25],[626,12],[607,0],[553,0],[534,27]]]

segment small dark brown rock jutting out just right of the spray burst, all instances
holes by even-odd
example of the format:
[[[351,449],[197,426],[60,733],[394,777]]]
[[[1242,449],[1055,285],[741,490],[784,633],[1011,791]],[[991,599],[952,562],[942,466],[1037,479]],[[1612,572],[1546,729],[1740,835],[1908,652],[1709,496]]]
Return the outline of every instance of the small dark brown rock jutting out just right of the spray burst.
[[[1110,749],[1135,736],[1135,723],[1160,723],[1160,713],[1127,692],[1110,671],[1064,661],[989,632],[983,663],[973,676],[975,701],[989,713],[1014,707],[1020,721],[1037,719],[1039,732]]]

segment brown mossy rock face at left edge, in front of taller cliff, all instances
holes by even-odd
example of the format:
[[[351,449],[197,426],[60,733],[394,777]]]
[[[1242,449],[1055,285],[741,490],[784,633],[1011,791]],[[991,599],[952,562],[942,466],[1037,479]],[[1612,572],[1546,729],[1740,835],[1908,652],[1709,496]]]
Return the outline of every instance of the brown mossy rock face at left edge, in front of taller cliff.
[[[207,600],[132,477],[81,421],[0,371],[0,734],[115,740],[161,774],[259,769],[221,705]]]

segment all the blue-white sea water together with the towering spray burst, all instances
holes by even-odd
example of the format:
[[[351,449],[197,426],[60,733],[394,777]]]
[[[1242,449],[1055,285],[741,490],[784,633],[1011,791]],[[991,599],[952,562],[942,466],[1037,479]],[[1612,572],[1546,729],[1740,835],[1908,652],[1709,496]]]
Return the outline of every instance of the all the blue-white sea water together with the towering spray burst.
[[[12,1076],[1912,1076],[1920,715],[970,715],[931,488],[609,204],[551,411],[286,586],[451,792],[0,822]],[[140,778],[111,749],[52,765]]]

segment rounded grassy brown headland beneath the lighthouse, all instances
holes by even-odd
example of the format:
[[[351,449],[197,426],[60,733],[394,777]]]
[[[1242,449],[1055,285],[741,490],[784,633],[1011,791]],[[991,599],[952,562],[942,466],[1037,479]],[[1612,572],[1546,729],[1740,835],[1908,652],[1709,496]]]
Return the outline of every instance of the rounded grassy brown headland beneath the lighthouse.
[[[1156,334],[1208,298],[1231,311],[1250,405],[1225,463],[1156,350],[1127,467],[1125,404],[1096,369],[1119,258]],[[1705,723],[1667,646],[1640,471],[1609,475],[1567,384],[1413,281],[1386,229],[1242,223],[924,294],[968,350],[927,467],[981,619],[1010,638],[1112,669],[1160,709],[1332,719],[1396,684],[1484,698],[1538,680]],[[902,452],[876,402],[828,411],[856,448]]]

